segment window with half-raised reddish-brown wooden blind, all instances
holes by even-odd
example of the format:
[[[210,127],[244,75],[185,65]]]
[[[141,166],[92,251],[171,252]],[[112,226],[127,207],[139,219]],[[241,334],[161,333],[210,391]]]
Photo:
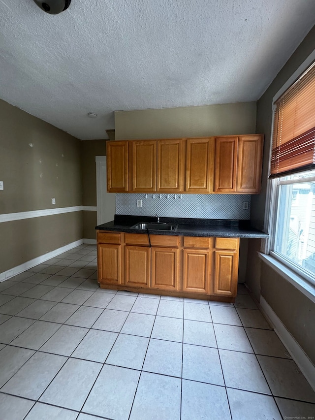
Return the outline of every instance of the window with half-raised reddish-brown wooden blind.
[[[315,62],[275,97],[270,255],[315,285]]]

